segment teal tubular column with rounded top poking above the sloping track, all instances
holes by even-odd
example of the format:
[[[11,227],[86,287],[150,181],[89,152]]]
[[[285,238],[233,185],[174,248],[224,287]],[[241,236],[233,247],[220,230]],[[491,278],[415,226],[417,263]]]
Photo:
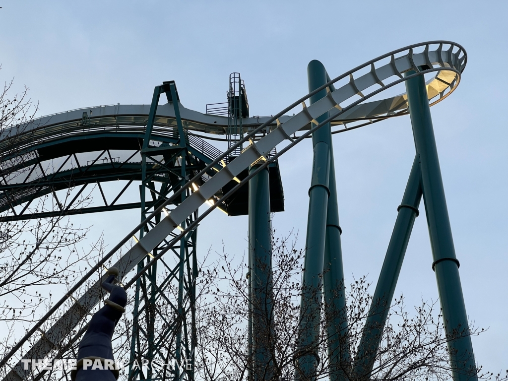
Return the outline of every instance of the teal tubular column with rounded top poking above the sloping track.
[[[326,83],[326,70],[322,63],[310,61],[307,67],[309,91]],[[326,96],[322,90],[310,98],[310,103]],[[328,117],[328,112],[319,118]],[[315,364],[318,357],[318,336],[321,320],[321,296],[323,283],[323,264],[325,257],[325,238],[327,226],[328,198],[330,196],[330,124],[312,134],[314,156],[312,179],[309,188],[309,213],[307,218],[307,237],[305,242],[305,261],[302,279],[302,298],[300,302],[299,353],[295,369],[296,380],[315,378]]]

